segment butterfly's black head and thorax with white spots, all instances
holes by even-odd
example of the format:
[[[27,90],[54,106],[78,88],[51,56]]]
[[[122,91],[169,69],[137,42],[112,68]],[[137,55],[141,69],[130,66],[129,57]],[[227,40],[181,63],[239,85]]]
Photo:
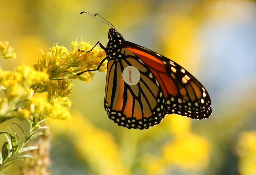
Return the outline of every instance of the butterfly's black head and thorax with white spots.
[[[125,40],[119,32],[112,28],[109,29],[108,38],[109,42],[106,47],[107,55],[109,56],[110,60],[118,59],[121,57],[121,45],[123,42],[125,42]]]

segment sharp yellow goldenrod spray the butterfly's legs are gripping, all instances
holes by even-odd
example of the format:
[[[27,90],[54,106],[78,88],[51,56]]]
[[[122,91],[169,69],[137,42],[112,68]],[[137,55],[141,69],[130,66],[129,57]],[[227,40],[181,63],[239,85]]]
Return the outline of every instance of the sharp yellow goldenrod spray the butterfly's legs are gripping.
[[[58,46],[58,43],[51,48],[51,51],[44,53],[42,51],[41,57],[38,59],[38,63],[33,67],[38,71],[46,72],[49,75],[49,79],[56,78],[68,78],[68,79],[80,79],[86,83],[93,79],[94,73],[86,72],[82,75],[77,75],[78,72],[90,69],[96,69],[101,60],[105,58],[106,53],[99,47],[95,47],[91,52],[78,51],[79,49],[88,51],[93,46],[88,42],[77,40],[71,42],[72,51],[64,46]],[[106,62],[104,62],[99,71],[106,71]]]

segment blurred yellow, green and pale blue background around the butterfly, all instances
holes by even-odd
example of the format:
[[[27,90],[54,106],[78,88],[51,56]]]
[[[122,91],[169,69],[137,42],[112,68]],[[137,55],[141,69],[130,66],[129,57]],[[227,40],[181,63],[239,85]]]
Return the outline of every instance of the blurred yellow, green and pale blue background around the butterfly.
[[[72,119],[49,120],[52,174],[256,174],[256,3],[242,0],[29,1],[1,0],[0,40],[15,60],[3,70],[37,62],[54,43],[71,49],[83,37],[108,42],[108,26],[81,11],[99,13],[124,39],[185,67],[207,88],[209,119],[168,115],[148,130],[119,127],[104,107],[104,72],[86,84],[74,80]],[[12,119],[10,123],[26,126]],[[4,137],[1,137],[3,140]],[[20,174],[16,162],[4,174]]]

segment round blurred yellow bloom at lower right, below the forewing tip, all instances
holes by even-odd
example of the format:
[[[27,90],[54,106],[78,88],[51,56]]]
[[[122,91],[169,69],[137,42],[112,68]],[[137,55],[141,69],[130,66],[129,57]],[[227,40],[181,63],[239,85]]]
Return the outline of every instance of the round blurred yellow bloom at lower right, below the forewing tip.
[[[174,138],[163,147],[167,165],[176,165],[184,170],[203,170],[208,165],[210,144],[200,136],[187,133]]]

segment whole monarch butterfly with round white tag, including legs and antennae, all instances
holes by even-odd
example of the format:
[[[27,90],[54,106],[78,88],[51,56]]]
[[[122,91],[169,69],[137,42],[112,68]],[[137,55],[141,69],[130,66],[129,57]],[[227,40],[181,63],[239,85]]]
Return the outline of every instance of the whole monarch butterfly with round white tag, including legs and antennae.
[[[211,116],[210,96],[193,75],[161,54],[125,41],[111,23],[103,20],[111,27],[109,42],[106,47],[100,41],[96,45],[105,50],[106,57],[97,69],[78,75],[98,70],[108,60],[104,108],[111,120],[126,128],[148,129],[167,114],[198,120]]]

